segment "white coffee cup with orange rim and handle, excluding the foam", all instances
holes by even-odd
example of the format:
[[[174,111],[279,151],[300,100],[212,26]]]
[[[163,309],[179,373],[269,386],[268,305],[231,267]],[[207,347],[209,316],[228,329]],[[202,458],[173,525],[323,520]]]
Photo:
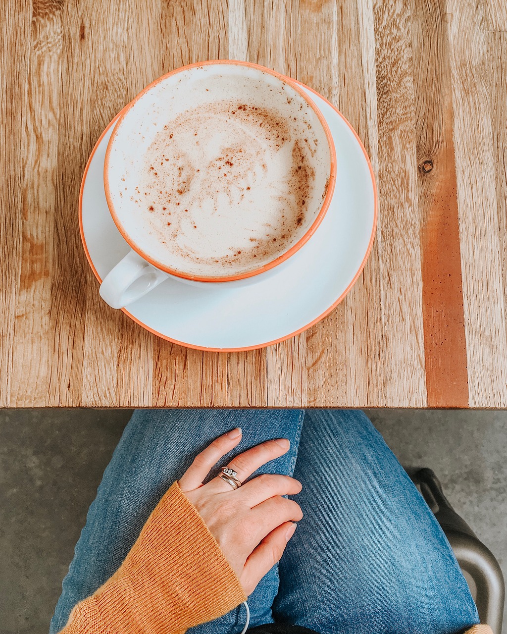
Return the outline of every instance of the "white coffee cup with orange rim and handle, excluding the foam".
[[[281,94],[280,91],[283,90],[287,101],[284,115],[287,117],[294,113],[295,108],[304,108],[305,121],[307,126],[308,122],[311,122],[317,148],[311,159],[315,173],[316,195],[308,201],[309,208],[305,208],[307,216],[306,224],[300,231],[302,235],[298,235],[297,240],[283,252],[274,252],[269,261],[262,261],[258,266],[252,261],[248,270],[239,273],[233,271],[233,274],[229,271],[220,271],[218,275],[202,275],[195,271],[175,269],[167,262],[161,261],[160,251],[157,249],[157,236],[153,238],[151,232],[150,235],[144,232],[144,244],[139,243],[139,229],[136,230],[136,222],[139,223],[139,205],[137,200],[134,200],[136,196],[129,195],[132,183],[136,182],[143,168],[143,157],[146,156],[155,135],[167,123],[167,104],[170,104],[171,118],[177,117],[189,108],[195,108],[196,100],[202,99],[203,105],[212,104],[213,100],[217,99],[220,82],[228,81],[230,85],[234,78],[257,82],[255,94],[266,91],[266,94],[259,94],[259,100],[262,99],[263,103],[269,101],[273,94]],[[214,86],[218,86],[212,98],[205,94],[208,91],[200,89],[200,86],[209,86],[210,81]],[[198,104],[200,103],[198,101]],[[160,107],[161,104],[164,107]],[[295,121],[297,119],[292,118]],[[99,290],[100,295],[113,308],[121,308],[143,297],[167,278],[176,278],[184,283],[199,286],[213,286],[216,283],[236,286],[265,279],[266,276],[276,273],[278,266],[293,257],[316,231],[329,207],[335,179],[336,155],[330,129],[313,101],[290,79],[268,68],[233,60],[206,61],[174,70],[146,87],[125,108],[108,143],[104,166],[106,199],[113,221],[131,247],[131,251],[105,277]]]

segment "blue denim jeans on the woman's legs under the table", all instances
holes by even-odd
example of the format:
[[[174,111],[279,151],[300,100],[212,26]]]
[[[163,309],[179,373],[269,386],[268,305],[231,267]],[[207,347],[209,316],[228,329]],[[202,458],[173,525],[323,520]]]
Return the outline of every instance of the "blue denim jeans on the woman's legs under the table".
[[[294,475],[304,518],[278,566],[248,598],[250,624],[321,634],[455,634],[478,623],[446,537],[382,436],[361,411],[137,410],[105,470],[51,621],[120,566],[170,484],[212,439],[243,428],[233,455],[271,438],[291,447],[259,473]],[[215,474],[210,474],[212,477]],[[236,634],[245,607],[190,631]]]

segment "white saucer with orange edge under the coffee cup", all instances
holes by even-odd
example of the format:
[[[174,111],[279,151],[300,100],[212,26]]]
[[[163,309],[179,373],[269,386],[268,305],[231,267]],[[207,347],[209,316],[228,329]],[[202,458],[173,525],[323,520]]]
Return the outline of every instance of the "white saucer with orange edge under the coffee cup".
[[[316,233],[276,275],[246,287],[234,282],[198,288],[166,280],[122,309],[155,335],[201,350],[269,346],[311,327],[342,301],[363,270],[373,243],[377,196],[359,137],[338,110],[300,84],[328,122],[337,152],[333,200]],[[120,113],[119,113],[120,114]],[[102,281],[129,252],[108,210],[103,184],[106,147],[117,117],[90,155],[81,183],[79,224],[93,272]],[[255,283],[254,283],[255,282]],[[97,288],[98,292],[98,288]]]

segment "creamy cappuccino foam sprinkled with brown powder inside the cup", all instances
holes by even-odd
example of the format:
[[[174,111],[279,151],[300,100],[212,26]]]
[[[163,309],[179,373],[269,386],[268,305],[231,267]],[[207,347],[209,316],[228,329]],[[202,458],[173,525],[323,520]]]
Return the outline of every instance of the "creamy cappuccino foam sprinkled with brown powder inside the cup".
[[[173,117],[170,104],[157,113],[141,167],[127,171],[120,193],[135,207],[129,237],[155,263],[200,278],[243,275],[314,222],[328,186],[316,185],[314,112],[284,89],[259,99],[266,87],[255,82]]]

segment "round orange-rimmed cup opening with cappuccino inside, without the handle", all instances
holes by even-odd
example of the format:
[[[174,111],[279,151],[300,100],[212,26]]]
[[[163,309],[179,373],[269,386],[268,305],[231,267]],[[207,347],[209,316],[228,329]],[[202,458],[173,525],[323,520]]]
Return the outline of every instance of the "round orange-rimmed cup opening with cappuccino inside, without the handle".
[[[286,261],[323,220],[335,152],[321,112],[268,68],[211,61],[170,72],[125,107],[104,188],[125,241],[193,281]]]

